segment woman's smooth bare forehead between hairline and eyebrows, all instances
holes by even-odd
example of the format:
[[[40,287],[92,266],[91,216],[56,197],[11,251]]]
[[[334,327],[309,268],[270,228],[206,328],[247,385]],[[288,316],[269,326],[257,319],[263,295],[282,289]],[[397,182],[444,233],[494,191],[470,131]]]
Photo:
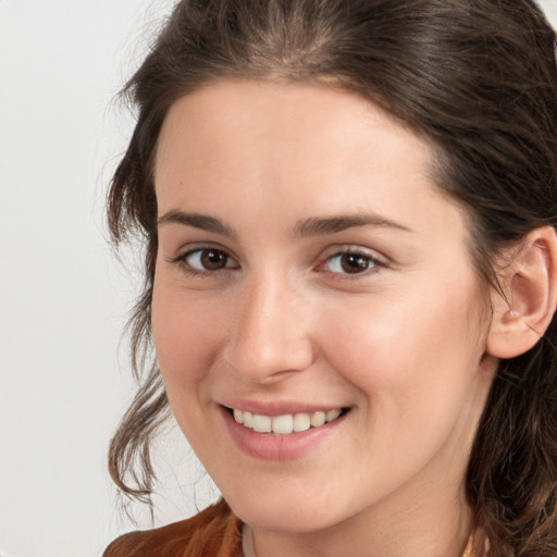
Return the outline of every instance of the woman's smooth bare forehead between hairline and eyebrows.
[[[159,211],[207,213],[210,203],[265,224],[362,210],[414,224],[454,219],[431,159],[423,139],[357,95],[223,82],[169,111],[156,160]]]

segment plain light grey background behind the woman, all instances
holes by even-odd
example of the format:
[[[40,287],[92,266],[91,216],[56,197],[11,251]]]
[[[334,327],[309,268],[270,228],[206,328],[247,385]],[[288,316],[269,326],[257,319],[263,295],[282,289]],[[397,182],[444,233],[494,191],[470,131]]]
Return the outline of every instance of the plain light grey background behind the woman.
[[[134,273],[103,200],[132,129],[112,99],[172,3],[0,0],[1,557],[99,556],[133,528],[106,453],[132,393],[119,339]],[[156,523],[216,495],[180,434],[162,444]]]

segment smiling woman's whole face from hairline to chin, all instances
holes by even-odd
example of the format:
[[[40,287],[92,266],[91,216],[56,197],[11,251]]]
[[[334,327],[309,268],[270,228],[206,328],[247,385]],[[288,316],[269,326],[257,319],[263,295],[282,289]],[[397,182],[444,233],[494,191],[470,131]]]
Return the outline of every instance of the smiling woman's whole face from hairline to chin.
[[[430,163],[383,111],[326,88],[224,82],[170,110],[158,359],[186,437],[257,528],[463,502],[488,312]]]

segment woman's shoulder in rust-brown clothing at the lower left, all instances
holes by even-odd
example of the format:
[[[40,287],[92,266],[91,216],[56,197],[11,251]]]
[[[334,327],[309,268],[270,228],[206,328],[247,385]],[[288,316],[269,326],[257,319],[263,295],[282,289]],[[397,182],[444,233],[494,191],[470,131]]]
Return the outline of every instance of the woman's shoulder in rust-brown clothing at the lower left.
[[[240,530],[239,519],[221,499],[187,520],[124,534],[102,557],[242,557]]]

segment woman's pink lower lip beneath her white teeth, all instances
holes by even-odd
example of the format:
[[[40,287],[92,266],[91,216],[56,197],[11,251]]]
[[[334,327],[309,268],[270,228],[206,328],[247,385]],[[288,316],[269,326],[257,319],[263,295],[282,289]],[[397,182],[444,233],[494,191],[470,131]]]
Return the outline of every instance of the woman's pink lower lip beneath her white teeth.
[[[289,435],[273,435],[272,433],[258,433],[245,428],[221,407],[224,423],[232,440],[250,457],[260,460],[282,462],[304,457],[311,450],[315,450],[337,428],[345,421],[346,414],[341,416],[320,428],[290,433]]]

